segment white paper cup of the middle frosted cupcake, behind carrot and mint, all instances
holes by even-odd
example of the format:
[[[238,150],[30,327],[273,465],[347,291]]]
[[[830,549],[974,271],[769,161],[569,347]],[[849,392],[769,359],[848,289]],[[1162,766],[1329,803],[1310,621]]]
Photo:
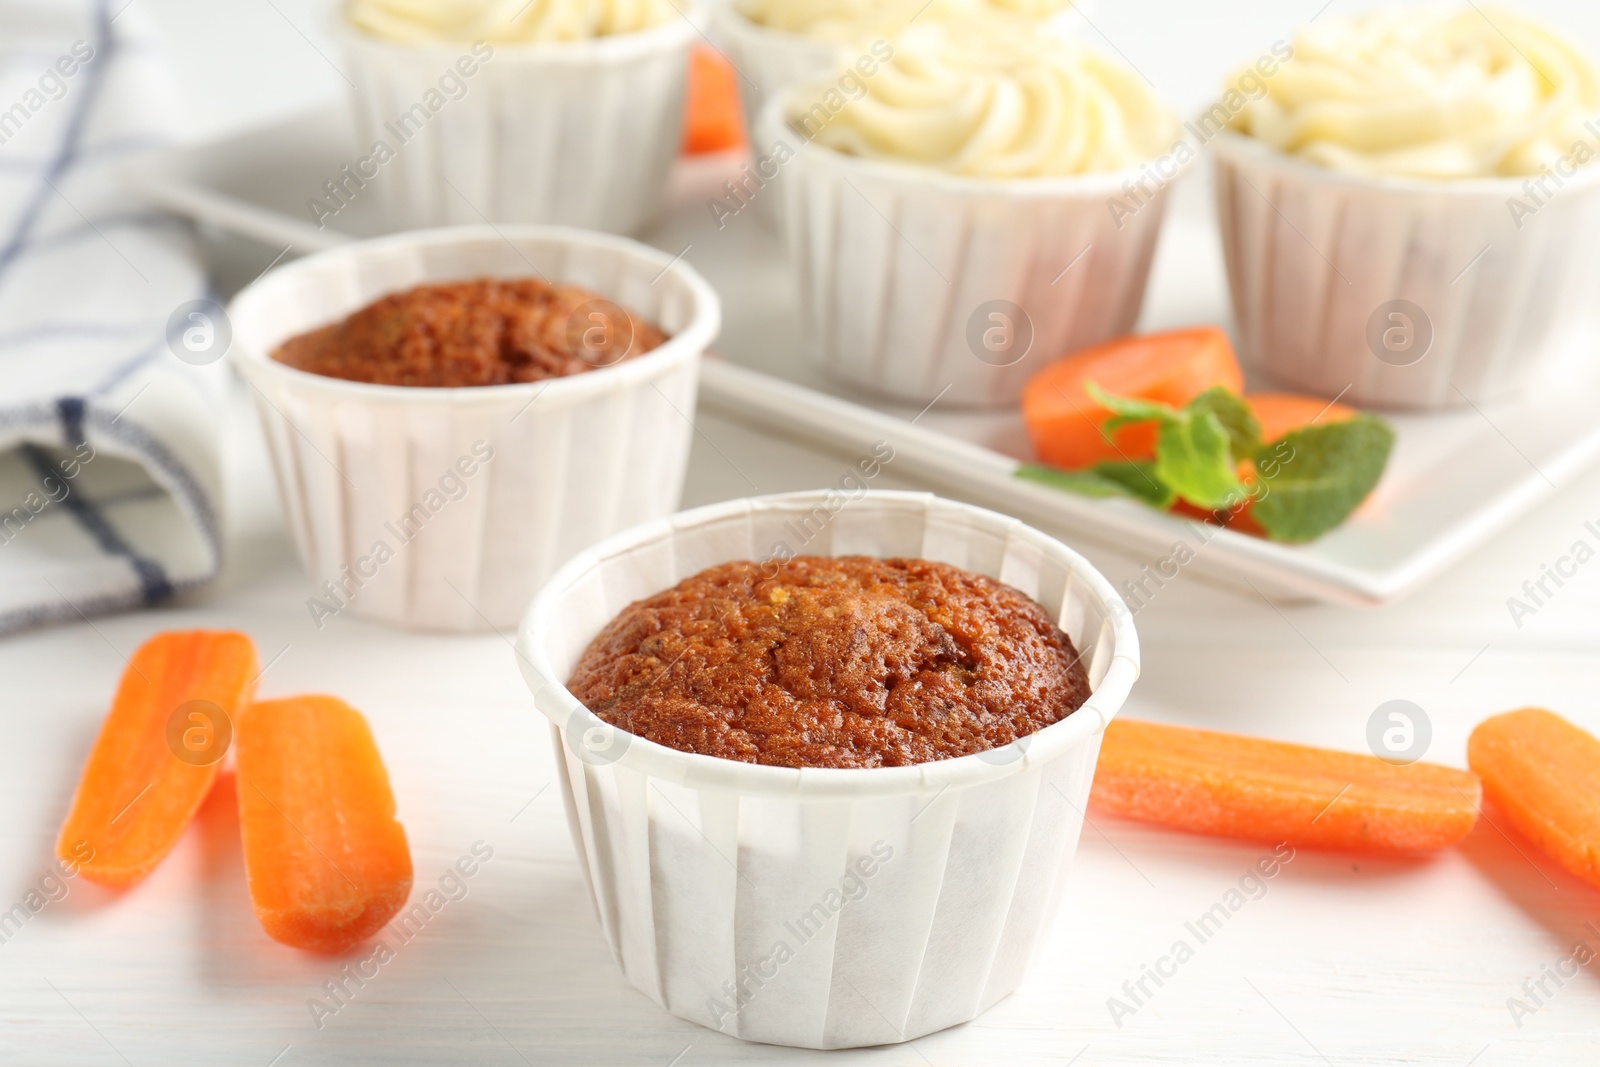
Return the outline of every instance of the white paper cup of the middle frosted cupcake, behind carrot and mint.
[[[1050,362],[1125,334],[1144,302],[1166,184],[1134,205],[1141,170],[979,179],[784,139],[784,243],[806,350],[854,389],[926,405],[1011,406]]]

